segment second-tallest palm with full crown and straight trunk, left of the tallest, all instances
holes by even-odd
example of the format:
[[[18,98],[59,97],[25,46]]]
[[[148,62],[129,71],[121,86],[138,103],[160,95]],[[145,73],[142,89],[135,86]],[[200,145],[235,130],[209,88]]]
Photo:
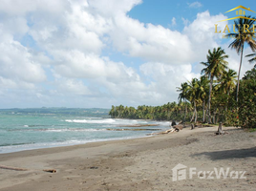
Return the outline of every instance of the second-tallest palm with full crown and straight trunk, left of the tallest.
[[[209,98],[208,98],[208,123],[211,123],[210,108],[211,108],[211,91],[212,91],[213,78],[214,77],[220,78],[224,70],[227,68],[226,65],[228,63],[227,61],[225,61],[225,58],[228,58],[228,55],[225,54],[224,50],[221,47],[219,47],[217,50],[214,48],[212,53],[210,50],[208,50],[207,62],[201,62],[201,64],[205,66],[205,68],[202,70],[202,74],[205,74],[205,76],[209,77],[210,79]]]

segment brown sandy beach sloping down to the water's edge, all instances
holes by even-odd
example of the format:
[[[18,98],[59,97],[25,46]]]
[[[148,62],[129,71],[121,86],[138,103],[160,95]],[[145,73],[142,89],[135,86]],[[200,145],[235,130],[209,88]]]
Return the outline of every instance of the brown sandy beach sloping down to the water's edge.
[[[228,134],[216,136],[216,131],[183,129],[148,138],[1,154],[0,165],[27,171],[0,169],[0,190],[255,190],[256,132],[224,127]],[[179,163],[186,167],[184,180],[179,180],[181,174],[174,180],[172,169]],[[218,179],[211,173],[214,168],[228,169],[227,176]]]

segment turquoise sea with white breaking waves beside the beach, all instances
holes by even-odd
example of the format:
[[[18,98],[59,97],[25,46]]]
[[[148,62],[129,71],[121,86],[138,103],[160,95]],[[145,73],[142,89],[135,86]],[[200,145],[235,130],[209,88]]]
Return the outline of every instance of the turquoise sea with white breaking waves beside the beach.
[[[165,130],[169,122],[80,117],[60,115],[1,115],[0,153],[11,153],[37,148],[49,148],[82,144],[86,142],[145,137],[155,131],[110,131],[108,129],[132,129],[132,124],[158,123],[145,129]],[[139,127],[139,129],[141,129]]]

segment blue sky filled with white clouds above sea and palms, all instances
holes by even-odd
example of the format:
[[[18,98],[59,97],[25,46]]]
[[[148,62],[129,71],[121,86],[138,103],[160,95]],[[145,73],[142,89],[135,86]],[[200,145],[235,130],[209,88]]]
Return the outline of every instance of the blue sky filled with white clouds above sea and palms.
[[[218,22],[254,1],[0,0],[0,108],[111,108],[178,101],[208,50],[240,56]],[[247,13],[247,12],[246,12]],[[256,17],[256,13],[248,12]],[[230,28],[232,29],[232,28]],[[245,47],[245,54],[251,53]],[[242,74],[253,65],[244,58]]]

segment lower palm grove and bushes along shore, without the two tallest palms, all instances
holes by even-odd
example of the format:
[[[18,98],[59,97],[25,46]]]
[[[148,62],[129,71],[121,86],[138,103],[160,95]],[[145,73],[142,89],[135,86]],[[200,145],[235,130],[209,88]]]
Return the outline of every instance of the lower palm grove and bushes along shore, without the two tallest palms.
[[[112,106],[109,115],[114,118],[182,120],[194,123],[224,122],[226,125],[256,128],[256,65],[240,80],[239,102],[236,101],[236,77],[235,71],[225,69],[219,78],[212,81],[210,91],[210,80],[204,74],[199,79],[193,78],[181,83],[181,87],[177,88],[180,92],[178,103],[140,105],[138,108]],[[207,103],[209,100],[210,104]],[[205,114],[208,114],[208,118]]]

